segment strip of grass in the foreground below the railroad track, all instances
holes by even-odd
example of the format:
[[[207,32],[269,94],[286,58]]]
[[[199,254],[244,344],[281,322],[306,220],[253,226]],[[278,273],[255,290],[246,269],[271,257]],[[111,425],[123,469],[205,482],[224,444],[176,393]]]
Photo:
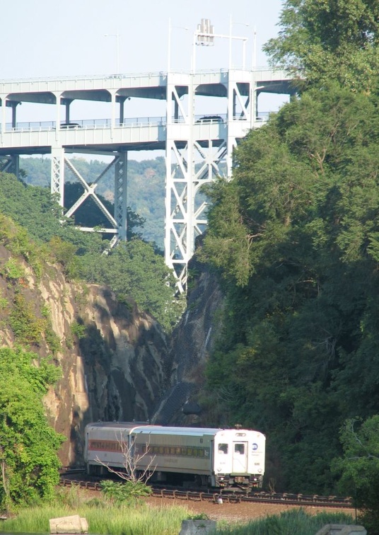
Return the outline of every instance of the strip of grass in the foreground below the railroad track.
[[[83,498],[75,487],[60,490],[54,504],[19,510],[14,518],[1,522],[1,533],[49,533],[49,519],[78,514],[86,518],[88,532],[98,535],[177,535],[182,520],[198,518],[185,506],[152,507],[143,501],[114,505],[107,500]],[[325,524],[354,524],[345,513],[307,514],[305,510],[290,510],[279,515],[243,525],[221,521],[218,535],[314,535]]]

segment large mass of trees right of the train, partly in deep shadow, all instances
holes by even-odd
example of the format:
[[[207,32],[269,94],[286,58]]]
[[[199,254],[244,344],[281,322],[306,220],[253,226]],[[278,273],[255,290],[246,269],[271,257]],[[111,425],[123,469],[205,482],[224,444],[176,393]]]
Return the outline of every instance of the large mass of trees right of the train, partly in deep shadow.
[[[267,476],[286,491],[332,491],[339,426],[379,411],[378,104],[303,93],[209,191],[202,259],[226,293],[209,389],[229,423],[267,434]]]

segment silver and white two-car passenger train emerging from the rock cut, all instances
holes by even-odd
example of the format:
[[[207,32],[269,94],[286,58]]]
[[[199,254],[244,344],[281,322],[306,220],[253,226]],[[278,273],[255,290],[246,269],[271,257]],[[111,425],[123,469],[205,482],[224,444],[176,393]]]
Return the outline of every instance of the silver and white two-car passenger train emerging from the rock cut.
[[[247,492],[261,488],[265,436],[248,429],[93,422],[85,429],[89,475],[133,470],[151,483]]]

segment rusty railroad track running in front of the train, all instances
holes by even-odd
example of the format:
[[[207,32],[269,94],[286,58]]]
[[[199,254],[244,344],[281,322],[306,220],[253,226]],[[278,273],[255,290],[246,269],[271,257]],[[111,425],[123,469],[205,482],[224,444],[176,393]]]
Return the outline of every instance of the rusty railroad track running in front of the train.
[[[76,471],[76,474],[79,471]],[[66,472],[68,473],[68,472]],[[87,490],[101,490],[99,481],[83,480],[75,476],[75,472],[69,472],[71,477],[65,477],[63,473],[61,476],[61,485],[69,486],[77,485]],[[243,493],[243,492],[202,492],[195,490],[183,490],[177,488],[160,488],[152,486],[152,496],[162,498],[172,498],[175,500],[189,500],[197,502],[227,502],[227,503],[246,503],[246,502],[260,502],[286,505],[303,505],[313,507],[335,507],[337,509],[351,509],[353,503],[351,497],[339,496],[319,496],[319,495],[303,495],[290,493]]]

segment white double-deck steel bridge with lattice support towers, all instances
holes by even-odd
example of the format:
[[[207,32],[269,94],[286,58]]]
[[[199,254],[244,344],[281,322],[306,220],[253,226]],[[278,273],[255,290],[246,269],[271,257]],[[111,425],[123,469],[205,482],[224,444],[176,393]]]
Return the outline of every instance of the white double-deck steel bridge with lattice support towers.
[[[66,217],[91,196],[110,223],[101,230],[113,234],[113,246],[127,236],[128,151],[165,151],[165,262],[175,271],[178,288],[184,292],[194,240],[206,227],[206,202],[199,200],[200,188],[217,176],[231,178],[233,148],[266,119],[258,110],[260,93],[295,92],[284,71],[269,69],[0,80],[0,171],[18,176],[19,156],[51,155],[51,191],[62,207],[64,169],[69,168],[83,185],[83,195]],[[146,104],[151,99],[162,100],[165,113],[162,117],[125,117],[126,106],[129,112],[134,98],[146,99]],[[216,98],[220,112],[197,113],[199,98],[203,104],[204,98]],[[74,100],[107,103],[109,118],[75,117],[72,122],[70,105]],[[18,105],[24,104],[25,111],[30,103],[47,105],[52,120],[18,122]],[[109,155],[112,162],[90,184],[68,154]],[[115,173],[113,214],[95,191],[110,168]]]

